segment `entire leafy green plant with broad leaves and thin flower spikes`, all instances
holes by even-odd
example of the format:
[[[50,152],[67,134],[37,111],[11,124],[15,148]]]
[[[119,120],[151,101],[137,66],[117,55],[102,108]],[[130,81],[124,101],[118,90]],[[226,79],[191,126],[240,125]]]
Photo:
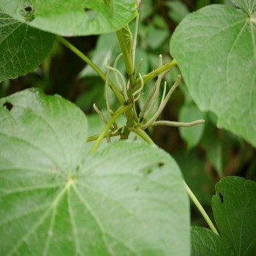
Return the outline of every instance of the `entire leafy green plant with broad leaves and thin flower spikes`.
[[[143,67],[143,61],[156,58],[155,53],[146,55],[143,44],[137,48],[140,26],[135,1],[77,0],[60,5],[0,0],[1,80],[37,67],[56,39],[105,83],[105,110],[93,106],[104,126],[94,135],[89,131],[91,117],[58,95],[26,89],[0,99],[0,255],[252,255],[256,251],[255,182],[230,176],[217,183],[211,206],[218,231],[199,203],[198,198],[204,197],[194,195],[176,161],[150,136],[154,127],[175,126],[189,149],[200,139],[208,148],[217,118],[218,127],[256,145],[256,1],[233,0],[233,4],[237,8],[214,4],[187,15],[170,41],[175,59],[163,64],[160,55],[148,72],[150,65]],[[185,7],[175,12],[177,6],[184,6],[178,1],[167,6],[176,22],[187,13]],[[147,18],[152,9],[146,10],[143,3],[142,7]],[[155,17],[157,26],[164,26]],[[134,18],[130,29],[128,23]],[[116,31],[116,42],[108,34],[102,36],[93,61],[62,37],[111,31]],[[155,44],[161,45],[167,33],[155,29],[153,34],[155,43],[152,34],[145,42],[156,50]],[[105,49],[104,42],[115,46]],[[111,62],[116,45],[121,53]],[[97,54],[107,61],[104,72]],[[93,74],[89,66],[80,77]],[[187,85],[188,91],[181,86],[187,102],[180,110],[180,122],[157,121],[182,83],[176,66]],[[176,74],[167,79],[173,86],[166,82],[162,86],[170,69]],[[200,110],[216,116],[200,113],[191,97]],[[202,117],[208,127],[204,134]],[[103,140],[109,145],[102,146]],[[223,176],[222,162],[211,157],[219,143],[208,155]],[[191,156],[195,160],[195,154]],[[185,169],[182,159],[186,156],[181,157]],[[187,195],[211,230],[190,226]]]

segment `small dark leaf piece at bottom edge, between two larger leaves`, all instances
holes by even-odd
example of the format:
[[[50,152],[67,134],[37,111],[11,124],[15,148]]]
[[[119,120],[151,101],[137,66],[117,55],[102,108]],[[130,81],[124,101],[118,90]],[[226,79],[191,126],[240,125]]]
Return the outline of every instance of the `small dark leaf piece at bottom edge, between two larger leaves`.
[[[204,227],[191,228],[191,256],[233,255],[225,241]]]

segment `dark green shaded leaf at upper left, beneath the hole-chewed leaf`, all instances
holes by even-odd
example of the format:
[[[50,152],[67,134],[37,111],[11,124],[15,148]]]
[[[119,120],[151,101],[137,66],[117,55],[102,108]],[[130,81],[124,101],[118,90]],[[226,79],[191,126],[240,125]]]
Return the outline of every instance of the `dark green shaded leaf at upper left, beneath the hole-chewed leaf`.
[[[53,47],[55,36],[20,23],[0,10],[0,80],[35,69]]]

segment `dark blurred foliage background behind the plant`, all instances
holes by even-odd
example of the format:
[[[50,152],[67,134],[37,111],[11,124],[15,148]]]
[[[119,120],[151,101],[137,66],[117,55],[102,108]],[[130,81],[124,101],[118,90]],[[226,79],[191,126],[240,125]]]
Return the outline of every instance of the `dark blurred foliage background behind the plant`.
[[[170,61],[169,43],[174,29],[189,12],[208,4],[232,5],[230,0],[141,1],[135,62],[138,64],[143,59],[140,69],[142,75],[158,67],[159,54],[162,54],[163,63]],[[130,27],[134,31],[135,23],[132,22]],[[89,56],[104,72],[107,60],[110,59],[110,64],[113,65],[116,56],[121,53],[115,33],[66,39]],[[121,61],[118,69],[124,73],[125,67]],[[173,85],[178,74],[179,70],[175,67],[165,76],[167,87]],[[96,103],[104,112],[104,85],[93,69],[56,42],[48,59],[33,72],[15,80],[1,81],[0,97],[29,87],[40,88],[46,94],[60,94],[86,113],[89,119],[89,135],[94,135],[100,132],[103,124],[92,105]],[[152,84],[147,86],[150,88]],[[146,99],[148,91],[149,89],[142,95],[142,101]],[[118,107],[113,95],[110,95],[110,103],[113,109]],[[201,113],[190,97],[186,85],[181,82],[165,107],[161,119],[194,121],[200,118],[206,120],[205,124],[182,129],[155,127],[148,133],[159,147],[176,159],[187,184],[211,219],[214,219],[211,213],[211,196],[214,195],[215,184],[224,176],[241,176],[256,181],[256,149],[236,135],[218,129],[214,113]],[[192,225],[207,226],[193,203],[191,211]]]

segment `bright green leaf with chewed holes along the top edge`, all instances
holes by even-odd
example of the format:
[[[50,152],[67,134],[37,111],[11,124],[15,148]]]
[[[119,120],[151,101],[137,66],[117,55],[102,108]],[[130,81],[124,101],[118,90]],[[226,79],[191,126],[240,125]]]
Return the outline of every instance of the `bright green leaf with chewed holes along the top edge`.
[[[64,36],[116,31],[135,18],[135,0],[0,0],[13,18]]]

